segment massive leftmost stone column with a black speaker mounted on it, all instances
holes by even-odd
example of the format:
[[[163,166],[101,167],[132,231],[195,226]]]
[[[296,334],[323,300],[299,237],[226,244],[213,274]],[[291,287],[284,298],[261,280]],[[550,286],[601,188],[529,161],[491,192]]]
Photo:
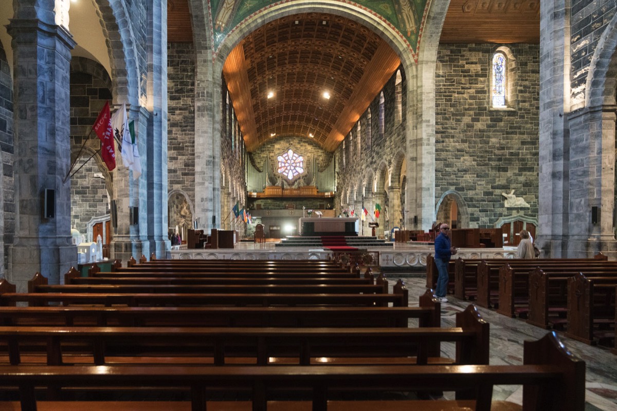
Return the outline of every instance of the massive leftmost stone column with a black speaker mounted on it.
[[[53,2],[17,5],[8,25],[14,56],[15,240],[7,279],[25,291],[35,272],[58,284],[77,264],[70,236],[70,51],[72,36],[54,23]],[[37,2],[38,3],[38,2]],[[53,190],[53,213],[43,215]],[[51,191],[49,192],[51,193]]]

